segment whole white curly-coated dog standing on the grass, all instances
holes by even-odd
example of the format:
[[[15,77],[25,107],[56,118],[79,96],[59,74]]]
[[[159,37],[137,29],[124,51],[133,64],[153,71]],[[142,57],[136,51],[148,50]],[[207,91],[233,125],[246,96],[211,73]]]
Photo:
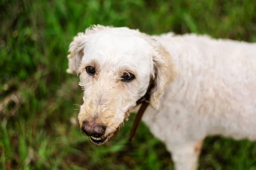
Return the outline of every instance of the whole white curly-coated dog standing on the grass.
[[[98,25],[69,51],[67,72],[84,89],[79,124],[93,144],[116,134],[151,82],[143,121],[176,170],[197,168],[208,135],[256,140],[256,43]]]

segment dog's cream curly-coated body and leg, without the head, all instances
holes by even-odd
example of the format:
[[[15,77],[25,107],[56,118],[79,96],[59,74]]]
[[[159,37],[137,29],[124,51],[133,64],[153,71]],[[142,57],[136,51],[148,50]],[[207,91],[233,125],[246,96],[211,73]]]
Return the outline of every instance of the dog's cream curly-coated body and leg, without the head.
[[[206,36],[155,37],[172,56],[177,77],[143,121],[178,170],[196,169],[208,135],[256,140],[256,44]],[[193,168],[192,168],[193,167]]]

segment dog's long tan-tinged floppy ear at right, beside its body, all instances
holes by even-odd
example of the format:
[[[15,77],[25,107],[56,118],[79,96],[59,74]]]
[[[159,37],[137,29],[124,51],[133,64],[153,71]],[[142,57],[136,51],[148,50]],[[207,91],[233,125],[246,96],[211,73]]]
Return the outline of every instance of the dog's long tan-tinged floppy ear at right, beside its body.
[[[160,97],[163,95],[165,88],[174,80],[176,71],[169,52],[156,41],[151,44],[154,46],[155,51],[153,54],[154,87],[151,90],[150,105],[157,110]]]

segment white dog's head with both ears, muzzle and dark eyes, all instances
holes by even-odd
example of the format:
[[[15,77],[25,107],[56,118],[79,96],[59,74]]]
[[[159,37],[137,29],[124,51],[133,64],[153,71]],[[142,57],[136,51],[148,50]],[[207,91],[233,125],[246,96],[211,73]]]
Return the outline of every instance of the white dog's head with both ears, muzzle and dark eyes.
[[[116,134],[151,79],[150,105],[157,109],[160,96],[175,77],[163,46],[129,28],[90,27],[74,37],[69,52],[67,72],[80,75],[84,90],[79,124],[95,145],[104,145]]]

